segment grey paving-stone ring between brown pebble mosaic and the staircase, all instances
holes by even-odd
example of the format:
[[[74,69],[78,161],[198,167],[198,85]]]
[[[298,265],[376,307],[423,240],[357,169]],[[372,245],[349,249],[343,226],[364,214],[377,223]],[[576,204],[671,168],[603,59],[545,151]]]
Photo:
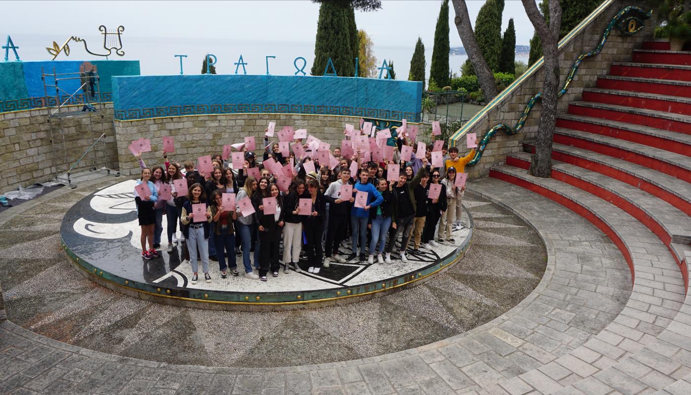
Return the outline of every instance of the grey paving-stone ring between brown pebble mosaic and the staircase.
[[[535,226],[549,257],[535,291],[482,327],[384,356],[243,368],[113,356],[66,345],[5,320],[0,324],[0,393],[538,394],[599,371],[587,355],[569,352],[583,349],[629,300],[632,282],[621,252],[585,219],[548,199],[496,180],[471,187]],[[614,391],[597,380],[592,383],[599,383],[603,394]]]

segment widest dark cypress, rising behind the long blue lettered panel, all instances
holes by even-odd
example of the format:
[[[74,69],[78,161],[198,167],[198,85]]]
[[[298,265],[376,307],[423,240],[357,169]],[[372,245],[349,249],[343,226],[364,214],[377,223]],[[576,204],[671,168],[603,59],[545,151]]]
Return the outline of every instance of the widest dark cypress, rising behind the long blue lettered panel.
[[[314,42],[314,64],[310,72],[312,75],[323,75],[329,58],[339,77],[352,77],[355,74],[353,54],[357,53],[359,47],[357,50],[350,48],[352,42],[350,12],[352,12],[350,3],[323,1],[319,6],[319,21],[316,25]],[[357,40],[357,30],[355,30],[355,35]]]

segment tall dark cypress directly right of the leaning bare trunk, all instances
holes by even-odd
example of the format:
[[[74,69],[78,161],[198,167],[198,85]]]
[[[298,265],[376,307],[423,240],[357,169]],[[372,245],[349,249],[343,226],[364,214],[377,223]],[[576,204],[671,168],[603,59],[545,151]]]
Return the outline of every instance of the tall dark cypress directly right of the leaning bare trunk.
[[[475,39],[491,71],[498,71],[499,54],[502,51],[502,28],[497,24],[498,19],[500,15],[495,0],[487,0],[475,19]],[[466,62],[471,64],[470,59]]]

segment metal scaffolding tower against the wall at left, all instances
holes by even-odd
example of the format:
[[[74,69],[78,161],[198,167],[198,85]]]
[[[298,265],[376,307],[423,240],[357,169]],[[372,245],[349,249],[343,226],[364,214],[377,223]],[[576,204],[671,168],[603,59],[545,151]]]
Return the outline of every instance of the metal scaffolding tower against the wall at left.
[[[111,175],[110,160],[106,147],[106,132],[104,131],[104,104],[101,102],[100,78],[94,66],[91,71],[79,71],[76,73],[46,73],[41,67],[41,80],[44,84],[45,105],[48,108],[48,124],[50,125],[50,143],[53,145],[53,174],[55,181],[64,182],[71,187],[76,187],[76,178],[92,172],[106,172]],[[79,88],[74,92],[63,89],[61,82],[78,80]],[[73,85],[72,85],[73,86]],[[55,95],[48,95],[48,88]],[[100,131],[95,131],[93,118],[100,117]],[[68,154],[68,137],[76,137],[77,129],[65,125],[66,120],[88,117],[88,131],[79,138],[91,138],[89,146],[84,154],[74,163],[70,163]],[[73,130],[70,130],[73,129]],[[82,162],[84,160],[84,162]],[[77,167],[88,169],[86,174],[76,175],[73,170]],[[113,171],[113,175],[119,176],[120,172]]]

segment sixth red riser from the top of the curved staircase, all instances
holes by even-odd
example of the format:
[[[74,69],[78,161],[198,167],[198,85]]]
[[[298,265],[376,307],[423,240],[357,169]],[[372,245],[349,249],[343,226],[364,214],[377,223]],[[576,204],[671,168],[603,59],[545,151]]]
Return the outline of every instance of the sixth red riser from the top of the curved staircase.
[[[679,114],[663,113],[661,111],[652,110],[643,111],[641,109],[635,109],[634,107],[591,102],[571,102],[569,103],[569,113],[578,116],[616,120],[635,125],[676,131],[683,134],[691,134],[691,123],[685,122],[683,119],[689,117]]]

